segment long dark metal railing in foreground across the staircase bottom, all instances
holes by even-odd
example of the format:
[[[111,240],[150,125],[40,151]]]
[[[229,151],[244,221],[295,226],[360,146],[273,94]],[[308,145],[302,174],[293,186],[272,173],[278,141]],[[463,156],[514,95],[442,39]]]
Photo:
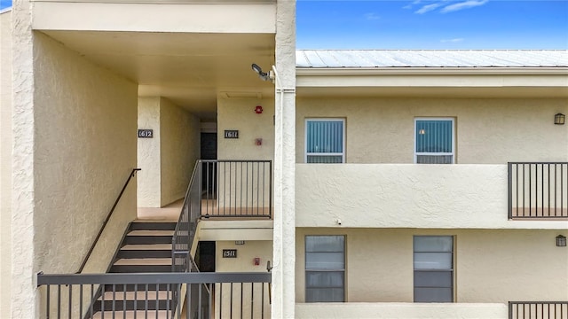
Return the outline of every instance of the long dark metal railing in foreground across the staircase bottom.
[[[41,316],[58,319],[269,318],[270,283],[265,272],[37,275]]]

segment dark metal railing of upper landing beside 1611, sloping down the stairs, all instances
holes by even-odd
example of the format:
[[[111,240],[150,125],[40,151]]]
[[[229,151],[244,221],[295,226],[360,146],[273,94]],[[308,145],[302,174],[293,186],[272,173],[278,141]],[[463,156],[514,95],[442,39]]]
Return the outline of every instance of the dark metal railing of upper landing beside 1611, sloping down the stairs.
[[[172,239],[172,271],[199,271],[190,256],[201,218],[272,218],[271,160],[200,159]]]

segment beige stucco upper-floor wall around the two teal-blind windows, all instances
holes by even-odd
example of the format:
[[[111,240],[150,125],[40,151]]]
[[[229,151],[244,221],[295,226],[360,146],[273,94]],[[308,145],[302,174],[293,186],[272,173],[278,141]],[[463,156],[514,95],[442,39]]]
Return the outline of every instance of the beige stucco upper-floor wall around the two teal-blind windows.
[[[305,119],[346,119],[347,163],[413,163],[414,118],[453,117],[456,163],[566,161],[568,113],[562,98],[298,98],[296,162],[305,159]]]

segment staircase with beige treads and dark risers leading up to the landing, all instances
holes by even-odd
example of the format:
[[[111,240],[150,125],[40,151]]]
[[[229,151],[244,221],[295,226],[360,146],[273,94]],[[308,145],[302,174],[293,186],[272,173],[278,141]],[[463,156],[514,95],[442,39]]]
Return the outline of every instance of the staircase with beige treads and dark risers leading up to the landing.
[[[175,228],[176,222],[131,222],[108,272],[170,272]],[[104,293],[93,303],[92,318],[103,317],[103,312],[105,318],[171,317],[176,307],[172,290],[167,284],[106,284]]]

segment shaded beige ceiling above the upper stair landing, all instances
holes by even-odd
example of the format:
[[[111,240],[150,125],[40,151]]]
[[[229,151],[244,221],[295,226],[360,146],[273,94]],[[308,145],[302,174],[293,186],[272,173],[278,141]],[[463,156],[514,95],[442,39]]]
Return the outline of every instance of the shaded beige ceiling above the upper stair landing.
[[[274,64],[272,34],[44,31],[93,63],[138,83],[140,97],[167,97],[214,119],[217,95],[271,97],[251,70]],[[86,74],[88,75],[88,74]],[[227,94],[229,92],[229,94]]]

